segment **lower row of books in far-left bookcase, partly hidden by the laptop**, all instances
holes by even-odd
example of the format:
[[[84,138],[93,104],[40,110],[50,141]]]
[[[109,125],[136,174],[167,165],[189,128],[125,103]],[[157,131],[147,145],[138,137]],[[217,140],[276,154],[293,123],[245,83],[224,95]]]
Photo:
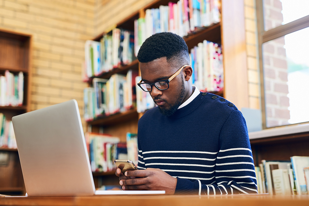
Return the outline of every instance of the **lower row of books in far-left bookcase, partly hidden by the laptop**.
[[[13,123],[3,113],[0,113],[0,147],[17,148]]]

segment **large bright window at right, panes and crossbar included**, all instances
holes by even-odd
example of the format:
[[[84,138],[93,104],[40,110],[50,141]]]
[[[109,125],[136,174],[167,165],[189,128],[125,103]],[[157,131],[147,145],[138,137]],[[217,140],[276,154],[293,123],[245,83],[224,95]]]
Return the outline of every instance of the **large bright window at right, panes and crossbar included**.
[[[263,128],[309,122],[309,1],[256,0]]]

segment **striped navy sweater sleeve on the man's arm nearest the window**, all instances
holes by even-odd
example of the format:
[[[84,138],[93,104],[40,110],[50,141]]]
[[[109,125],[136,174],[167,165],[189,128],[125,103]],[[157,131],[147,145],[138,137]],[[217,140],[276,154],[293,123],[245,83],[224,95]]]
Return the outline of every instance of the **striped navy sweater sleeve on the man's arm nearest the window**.
[[[232,111],[219,135],[219,152],[215,164],[215,181],[177,178],[176,193],[220,195],[257,193],[256,175],[245,119]]]

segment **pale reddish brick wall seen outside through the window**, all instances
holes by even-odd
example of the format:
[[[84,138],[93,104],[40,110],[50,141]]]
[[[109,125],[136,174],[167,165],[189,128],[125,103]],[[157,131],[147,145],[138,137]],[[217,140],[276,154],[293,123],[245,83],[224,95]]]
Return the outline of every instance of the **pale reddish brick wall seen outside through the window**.
[[[280,26],[283,22],[280,0],[264,1],[265,30]],[[287,60],[284,37],[263,44],[263,67],[265,81],[266,126],[287,125],[290,105],[287,97]]]

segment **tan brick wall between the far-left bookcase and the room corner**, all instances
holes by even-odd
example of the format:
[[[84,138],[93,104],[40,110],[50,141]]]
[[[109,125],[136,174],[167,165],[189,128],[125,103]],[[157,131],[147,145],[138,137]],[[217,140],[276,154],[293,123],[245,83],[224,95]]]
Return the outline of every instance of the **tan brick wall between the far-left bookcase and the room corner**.
[[[95,0],[0,0],[0,27],[33,35],[31,110],[74,98],[83,114],[81,68],[94,8]]]

